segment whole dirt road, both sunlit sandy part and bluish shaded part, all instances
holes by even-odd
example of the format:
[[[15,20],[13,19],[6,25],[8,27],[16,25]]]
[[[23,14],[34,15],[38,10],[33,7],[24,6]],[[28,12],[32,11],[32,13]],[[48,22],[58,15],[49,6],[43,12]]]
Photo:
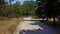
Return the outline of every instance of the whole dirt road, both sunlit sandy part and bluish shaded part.
[[[26,20],[30,17],[24,18]],[[17,31],[14,34],[58,34],[50,26],[43,24],[40,21],[22,21],[17,27]]]

